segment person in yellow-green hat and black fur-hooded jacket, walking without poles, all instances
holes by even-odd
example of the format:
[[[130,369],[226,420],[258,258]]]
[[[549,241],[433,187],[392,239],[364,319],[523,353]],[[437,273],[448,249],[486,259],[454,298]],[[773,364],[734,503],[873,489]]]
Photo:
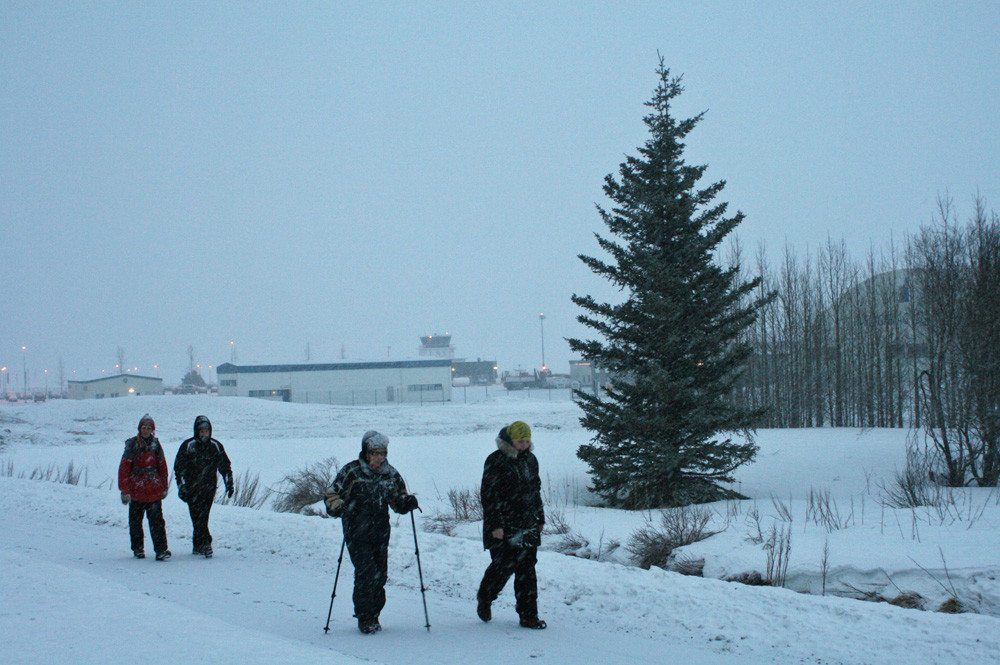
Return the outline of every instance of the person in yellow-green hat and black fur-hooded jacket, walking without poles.
[[[497,450],[483,466],[483,547],[490,551],[492,562],[479,585],[476,613],[483,621],[493,618],[493,601],[513,574],[521,625],[542,629],[535,562],[545,510],[538,458],[532,449],[531,428],[518,420],[500,430]]]

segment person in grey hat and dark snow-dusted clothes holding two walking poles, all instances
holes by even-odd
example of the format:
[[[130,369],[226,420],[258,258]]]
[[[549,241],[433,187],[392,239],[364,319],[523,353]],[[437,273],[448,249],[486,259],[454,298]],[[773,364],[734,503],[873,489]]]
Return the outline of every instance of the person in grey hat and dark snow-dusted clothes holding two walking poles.
[[[389,508],[406,514],[419,508],[403,477],[388,461],[389,438],[369,430],[361,454],[337,474],[326,492],[326,512],[340,517],[344,541],[354,564],[354,615],[362,633],[382,630],[389,563]]]

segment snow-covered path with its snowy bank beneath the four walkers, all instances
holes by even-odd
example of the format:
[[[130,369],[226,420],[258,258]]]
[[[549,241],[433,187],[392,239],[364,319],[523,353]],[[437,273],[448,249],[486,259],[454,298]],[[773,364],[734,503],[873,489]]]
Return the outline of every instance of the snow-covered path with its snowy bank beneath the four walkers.
[[[117,493],[0,478],[5,663],[1000,662],[1000,621],[751,588],[541,553],[546,631],[515,623],[510,592],[474,615],[486,555],[420,533],[432,629],[408,520],[393,533],[384,631],[358,633],[345,556],[323,633],[339,533],[330,520],[217,507],[216,557],[190,554],[184,507],[165,502],[175,556],[131,558]],[[9,571],[9,572],[7,572]],[[412,578],[412,579],[411,579]],[[135,636],[147,636],[134,647]]]

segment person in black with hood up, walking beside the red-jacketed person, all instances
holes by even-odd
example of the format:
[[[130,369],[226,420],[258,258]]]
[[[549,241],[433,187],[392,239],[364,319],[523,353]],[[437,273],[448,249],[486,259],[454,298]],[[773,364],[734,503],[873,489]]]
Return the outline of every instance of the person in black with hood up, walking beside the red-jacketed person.
[[[188,505],[194,533],[192,553],[206,559],[212,556],[212,534],[208,515],[215,501],[217,476],[226,483],[226,494],[233,496],[233,468],[222,444],[212,438],[212,423],[206,416],[194,419],[194,436],[184,441],[174,459],[177,496]]]

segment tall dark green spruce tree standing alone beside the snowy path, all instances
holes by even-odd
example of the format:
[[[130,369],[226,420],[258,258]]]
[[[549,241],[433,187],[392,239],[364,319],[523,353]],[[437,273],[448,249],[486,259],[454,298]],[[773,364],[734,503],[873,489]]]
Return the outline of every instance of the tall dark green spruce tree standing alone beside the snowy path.
[[[659,84],[645,117],[650,137],[605,178],[610,211],[598,207],[613,239],[595,234],[609,260],[581,255],[624,294],[619,304],[573,295],[577,319],[597,340],[570,348],[607,370],[599,394],[576,391],[591,442],[577,455],[595,491],[614,506],[650,508],[738,496],[721,484],[751,461],[762,410],[730,400],[751,354],[739,341],[770,297],[754,297],[760,279],[741,281],[739,266],[720,266],[720,242],[742,221],[715,198],[724,181],[698,188],[707,166],[684,163],[685,137],[704,113],[678,122],[671,100],[683,91],[660,59]],[[742,435],[742,436],[737,436]],[[735,437],[735,438],[734,438]]]

